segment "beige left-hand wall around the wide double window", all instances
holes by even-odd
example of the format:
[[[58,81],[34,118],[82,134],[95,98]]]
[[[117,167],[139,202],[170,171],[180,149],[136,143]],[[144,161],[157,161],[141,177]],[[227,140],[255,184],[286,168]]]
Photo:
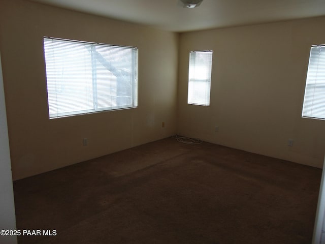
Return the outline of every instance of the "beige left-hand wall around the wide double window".
[[[137,46],[139,107],[49,120],[43,36]],[[178,34],[1,0],[0,51],[14,179],[176,133]]]

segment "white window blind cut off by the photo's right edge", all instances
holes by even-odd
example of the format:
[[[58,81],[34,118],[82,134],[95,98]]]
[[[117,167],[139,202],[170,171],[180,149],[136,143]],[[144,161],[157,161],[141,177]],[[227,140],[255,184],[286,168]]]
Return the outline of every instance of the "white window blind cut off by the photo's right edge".
[[[325,45],[310,49],[302,116],[325,119]]]

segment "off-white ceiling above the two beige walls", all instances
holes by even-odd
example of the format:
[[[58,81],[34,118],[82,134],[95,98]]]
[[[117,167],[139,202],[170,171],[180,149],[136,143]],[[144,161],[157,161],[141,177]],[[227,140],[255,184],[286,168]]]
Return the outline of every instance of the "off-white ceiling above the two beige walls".
[[[197,31],[325,15],[325,0],[32,0],[173,32]]]

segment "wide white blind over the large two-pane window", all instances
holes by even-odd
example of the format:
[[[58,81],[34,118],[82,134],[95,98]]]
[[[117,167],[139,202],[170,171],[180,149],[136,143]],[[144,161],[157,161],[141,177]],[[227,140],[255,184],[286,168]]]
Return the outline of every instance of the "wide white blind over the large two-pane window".
[[[49,117],[138,106],[138,49],[44,38]]]

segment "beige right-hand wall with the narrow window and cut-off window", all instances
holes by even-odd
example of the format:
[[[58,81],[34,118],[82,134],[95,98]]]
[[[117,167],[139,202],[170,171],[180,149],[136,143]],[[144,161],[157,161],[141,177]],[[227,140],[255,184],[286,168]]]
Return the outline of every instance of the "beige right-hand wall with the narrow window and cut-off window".
[[[301,112],[310,46],[325,43],[324,24],[319,17],[181,34],[178,133],[322,167],[325,121]],[[188,105],[188,53],[210,49],[210,107]]]

